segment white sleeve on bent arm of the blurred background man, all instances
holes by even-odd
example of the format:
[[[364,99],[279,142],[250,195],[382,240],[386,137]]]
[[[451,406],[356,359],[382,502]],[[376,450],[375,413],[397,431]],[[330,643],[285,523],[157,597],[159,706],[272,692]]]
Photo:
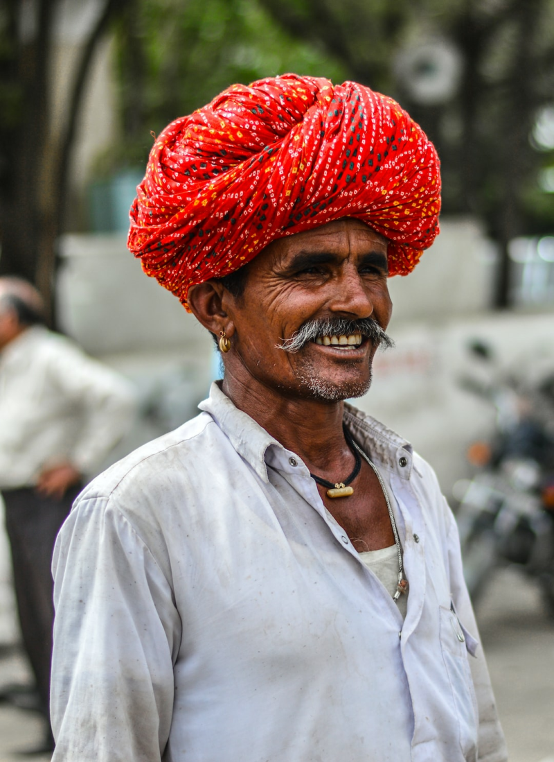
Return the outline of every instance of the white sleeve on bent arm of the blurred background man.
[[[119,373],[71,344],[59,347],[49,373],[67,402],[81,413],[72,463],[81,473],[91,474],[129,430],[135,392]]]

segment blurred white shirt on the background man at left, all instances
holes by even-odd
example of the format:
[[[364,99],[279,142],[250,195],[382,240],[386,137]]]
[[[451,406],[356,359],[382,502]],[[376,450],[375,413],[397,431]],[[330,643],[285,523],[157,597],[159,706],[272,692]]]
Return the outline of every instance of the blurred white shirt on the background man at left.
[[[90,474],[129,427],[132,387],[68,339],[27,328],[0,354],[0,488],[70,460]]]

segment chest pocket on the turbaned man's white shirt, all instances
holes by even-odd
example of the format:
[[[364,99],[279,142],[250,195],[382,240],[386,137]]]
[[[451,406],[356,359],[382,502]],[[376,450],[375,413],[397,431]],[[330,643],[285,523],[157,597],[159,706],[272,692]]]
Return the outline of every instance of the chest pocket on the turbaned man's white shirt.
[[[468,653],[475,654],[477,641],[462,627],[454,610],[440,607],[441,651],[460,731],[460,748],[466,760],[477,758],[479,712]]]

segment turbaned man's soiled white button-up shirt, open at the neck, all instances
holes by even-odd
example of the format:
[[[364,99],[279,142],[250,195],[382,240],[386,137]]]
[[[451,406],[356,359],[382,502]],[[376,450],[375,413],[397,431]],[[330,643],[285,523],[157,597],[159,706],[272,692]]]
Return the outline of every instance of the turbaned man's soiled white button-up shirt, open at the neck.
[[[59,535],[53,762],[505,762],[428,464],[346,406],[394,498],[403,621],[298,455],[216,385],[200,408]]]

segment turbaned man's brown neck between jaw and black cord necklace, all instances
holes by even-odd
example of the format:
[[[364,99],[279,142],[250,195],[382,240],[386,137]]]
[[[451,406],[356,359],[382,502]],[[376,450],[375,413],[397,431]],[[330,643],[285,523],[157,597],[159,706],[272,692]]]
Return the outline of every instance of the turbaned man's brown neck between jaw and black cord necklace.
[[[250,374],[244,378],[244,368],[240,370],[226,363],[224,394],[283,447],[297,453],[310,471],[332,469],[337,458],[350,463],[352,454],[342,433],[342,401],[288,397]]]

